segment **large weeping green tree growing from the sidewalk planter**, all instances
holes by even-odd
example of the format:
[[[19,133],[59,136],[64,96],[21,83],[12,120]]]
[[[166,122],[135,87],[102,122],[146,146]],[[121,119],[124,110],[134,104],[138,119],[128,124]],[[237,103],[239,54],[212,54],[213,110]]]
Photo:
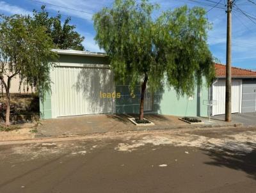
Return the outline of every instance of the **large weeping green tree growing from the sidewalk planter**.
[[[156,91],[167,84],[177,95],[191,95],[202,76],[208,84],[214,77],[205,10],[182,6],[153,19],[158,8],[147,0],[115,0],[93,16],[95,40],[106,50],[115,79],[129,79],[131,89],[141,82],[140,120],[147,86]]]

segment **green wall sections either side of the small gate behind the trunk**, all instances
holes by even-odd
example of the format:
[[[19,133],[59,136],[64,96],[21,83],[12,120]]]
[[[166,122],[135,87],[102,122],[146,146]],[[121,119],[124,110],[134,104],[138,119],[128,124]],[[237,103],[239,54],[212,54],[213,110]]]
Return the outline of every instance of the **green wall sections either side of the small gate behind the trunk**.
[[[121,93],[121,98],[116,98],[116,113],[140,112],[140,86],[134,91],[136,97],[130,96],[131,91],[126,85],[116,85],[116,93]],[[208,99],[206,86],[195,88],[193,96],[177,96],[174,89],[163,88],[163,91],[154,93],[152,112],[174,116],[207,116],[207,106],[204,100]]]

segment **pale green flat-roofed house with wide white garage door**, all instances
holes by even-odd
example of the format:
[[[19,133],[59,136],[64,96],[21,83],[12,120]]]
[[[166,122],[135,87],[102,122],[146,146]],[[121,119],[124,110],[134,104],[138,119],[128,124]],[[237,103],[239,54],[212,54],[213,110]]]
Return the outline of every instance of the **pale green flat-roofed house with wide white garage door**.
[[[51,93],[40,102],[42,118],[100,113],[136,113],[140,86],[131,93],[127,84],[114,82],[106,54],[54,50],[59,63],[51,70]],[[208,89],[195,88],[195,95],[178,98],[173,89],[146,93],[145,112],[175,116],[207,116]]]

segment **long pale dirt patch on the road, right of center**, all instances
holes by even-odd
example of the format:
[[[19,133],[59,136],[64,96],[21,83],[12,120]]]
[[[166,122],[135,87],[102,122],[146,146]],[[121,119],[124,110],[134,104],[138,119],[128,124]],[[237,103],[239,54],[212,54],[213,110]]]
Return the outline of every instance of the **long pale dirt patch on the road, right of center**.
[[[223,135],[220,138],[206,137],[204,135],[186,132],[173,132],[172,134],[159,133],[157,135],[133,136],[127,138],[127,143],[119,143],[115,147],[118,151],[134,151],[146,144],[188,146],[202,148],[204,150],[236,151],[243,155],[253,151],[252,144],[256,141],[256,132],[241,132],[238,134]],[[227,151],[227,153],[228,153]]]

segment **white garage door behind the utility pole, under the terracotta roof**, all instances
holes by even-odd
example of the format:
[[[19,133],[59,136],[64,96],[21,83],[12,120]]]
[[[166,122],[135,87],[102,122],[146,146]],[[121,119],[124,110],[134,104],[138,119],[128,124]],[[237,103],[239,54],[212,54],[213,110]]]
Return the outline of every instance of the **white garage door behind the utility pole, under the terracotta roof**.
[[[232,80],[231,89],[231,112],[241,112],[241,93],[242,81]],[[225,96],[226,96],[226,82],[225,80],[218,80],[212,86],[212,100],[216,100],[216,105],[212,107],[212,115],[225,114]]]

